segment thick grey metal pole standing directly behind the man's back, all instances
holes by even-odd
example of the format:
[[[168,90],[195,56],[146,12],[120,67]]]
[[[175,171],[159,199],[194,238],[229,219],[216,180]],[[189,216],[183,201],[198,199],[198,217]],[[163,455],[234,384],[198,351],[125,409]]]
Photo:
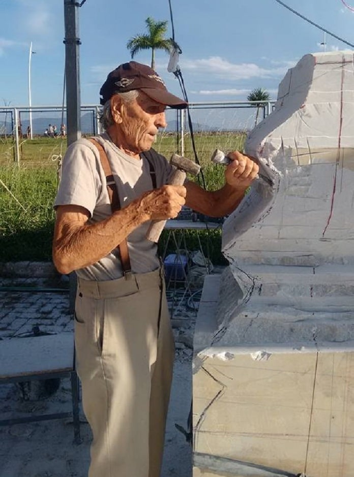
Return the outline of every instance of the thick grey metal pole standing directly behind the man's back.
[[[81,99],[79,65],[79,4],[75,0],[64,0],[65,20],[65,82],[68,146],[81,137]],[[69,309],[74,312],[76,295],[76,273],[69,275]]]

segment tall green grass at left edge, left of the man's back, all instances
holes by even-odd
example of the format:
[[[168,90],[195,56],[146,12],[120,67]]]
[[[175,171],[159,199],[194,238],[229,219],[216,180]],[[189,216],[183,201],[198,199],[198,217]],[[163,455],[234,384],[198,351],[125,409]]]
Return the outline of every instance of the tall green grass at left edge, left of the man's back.
[[[56,168],[0,166],[0,261],[51,260]]]

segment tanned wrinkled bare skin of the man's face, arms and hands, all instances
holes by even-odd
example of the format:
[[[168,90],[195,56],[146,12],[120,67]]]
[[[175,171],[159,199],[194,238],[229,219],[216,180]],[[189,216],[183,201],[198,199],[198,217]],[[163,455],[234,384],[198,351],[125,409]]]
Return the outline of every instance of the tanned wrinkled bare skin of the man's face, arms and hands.
[[[149,150],[159,128],[167,125],[165,109],[165,105],[143,92],[129,103],[114,95],[111,98],[114,124],[107,133],[124,153],[140,161],[139,153]],[[145,192],[127,207],[95,224],[88,224],[90,213],[83,207],[59,206],[53,239],[53,262],[57,270],[67,274],[98,262],[143,222],[174,218],[184,204],[214,217],[230,213],[256,178],[258,166],[241,152],[230,152],[228,156],[232,161],[225,168],[225,185],[213,192],[192,181],[185,186],[164,185]]]

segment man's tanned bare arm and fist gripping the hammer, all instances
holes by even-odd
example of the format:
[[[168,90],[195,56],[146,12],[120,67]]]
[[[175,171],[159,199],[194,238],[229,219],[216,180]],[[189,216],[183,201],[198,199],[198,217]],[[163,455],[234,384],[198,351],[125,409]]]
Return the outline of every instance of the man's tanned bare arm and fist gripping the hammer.
[[[176,217],[185,204],[183,186],[147,190],[127,207],[105,220],[88,224],[90,213],[75,205],[59,206],[53,239],[53,262],[61,273],[87,267],[106,257],[147,220]]]

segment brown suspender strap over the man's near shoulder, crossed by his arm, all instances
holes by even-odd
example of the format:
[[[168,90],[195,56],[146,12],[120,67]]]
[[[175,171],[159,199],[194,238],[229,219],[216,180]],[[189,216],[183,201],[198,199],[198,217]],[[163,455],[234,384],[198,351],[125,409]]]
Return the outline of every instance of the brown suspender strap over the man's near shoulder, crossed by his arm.
[[[102,168],[106,176],[107,191],[108,191],[108,196],[111,203],[111,210],[112,212],[114,212],[115,210],[119,210],[121,208],[121,204],[119,200],[117,186],[115,184],[115,180],[112,174],[112,170],[108,161],[107,154],[104,148],[101,146],[101,144],[98,141],[96,141],[93,138],[90,138],[88,140],[97,147],[98,152],[100,153]],[[117,245],[117,248],[119,248],[119,251],[120,251],[123,272],[125,277],[127,278],[128,276],[127,274],[130,274],[130,272],[132,271],[132,268],[130,265],[127,239],[124,239],[119,245]]]

